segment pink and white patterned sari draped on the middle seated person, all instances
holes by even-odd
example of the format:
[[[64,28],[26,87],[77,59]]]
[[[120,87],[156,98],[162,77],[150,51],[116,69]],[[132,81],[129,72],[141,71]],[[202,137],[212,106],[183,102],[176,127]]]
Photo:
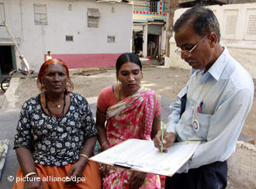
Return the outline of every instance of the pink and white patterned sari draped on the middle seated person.
[[[160,103],[159,94],[147,88],[140,88],[135,94],[109,107],[106,115],[109,146],[115,146],[126,139],[150,140],[157,101]],[[123,168],[111,169],[109,176],[103,179],[103,188],[129,188],[132,172]],[[147,174],[140,188],[160,188],[159,177]]]

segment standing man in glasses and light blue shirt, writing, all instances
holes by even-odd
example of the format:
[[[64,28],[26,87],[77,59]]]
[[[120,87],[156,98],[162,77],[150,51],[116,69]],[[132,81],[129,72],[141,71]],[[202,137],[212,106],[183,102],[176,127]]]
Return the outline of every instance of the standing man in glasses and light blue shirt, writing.
[[[209,9],[195,6],[175,22],[175,42],[181,55],[194,71],[177,101],[171,104],[164,133],[164,150],[175,141],[201,141],[192,158],[165,188],[225,188],[227,159],[254,97],[254,83],[227,47],[220,45],[220,26]],[[184,112],[182,99],[186,97]],[[154,145],[161,148],[161,132]]]

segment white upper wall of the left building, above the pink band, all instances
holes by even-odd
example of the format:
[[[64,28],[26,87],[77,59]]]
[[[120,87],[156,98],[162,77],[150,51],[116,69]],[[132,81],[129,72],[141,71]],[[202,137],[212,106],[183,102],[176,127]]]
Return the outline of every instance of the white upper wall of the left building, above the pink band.
[[[123,53],[131,51],[133,7],[127,3],[96,2],[95,0],[0,0],[5,5],[6,22],[19,48],[38,70],[44,54]],[[33,3],[47,4],[47,26],[35,25]],[[72,5],[72,11],[68,5]],[[87,9],[99,9],[99,28],[87,27]],[[115,9],[112,13],[112,8]],[[66,42],[65,36],[74,36]],[[107,43],[107,36],[116,36],[116,43]],[[3,27],[0,39],[6,37]],[[19,63],[19,53],[16,52]],[[19,64],[17,65],[19,67]]]

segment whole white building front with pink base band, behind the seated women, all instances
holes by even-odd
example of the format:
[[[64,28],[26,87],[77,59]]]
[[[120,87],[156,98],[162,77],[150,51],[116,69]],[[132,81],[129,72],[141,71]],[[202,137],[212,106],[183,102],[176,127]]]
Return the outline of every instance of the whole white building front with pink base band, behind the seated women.
[[[0,0],[0,10],[2,73],[20,67],[2,19],[34,70],[40,69],[48,50],[69,68],[113,66],[120,53],[131,51],[133,5],[128,2]]]

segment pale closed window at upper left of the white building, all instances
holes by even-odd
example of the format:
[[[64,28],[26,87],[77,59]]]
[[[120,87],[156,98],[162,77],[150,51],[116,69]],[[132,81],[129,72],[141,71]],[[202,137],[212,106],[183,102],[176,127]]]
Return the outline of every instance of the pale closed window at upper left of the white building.
[[[35,25],[47,25],[47,5],[33,4]]]

